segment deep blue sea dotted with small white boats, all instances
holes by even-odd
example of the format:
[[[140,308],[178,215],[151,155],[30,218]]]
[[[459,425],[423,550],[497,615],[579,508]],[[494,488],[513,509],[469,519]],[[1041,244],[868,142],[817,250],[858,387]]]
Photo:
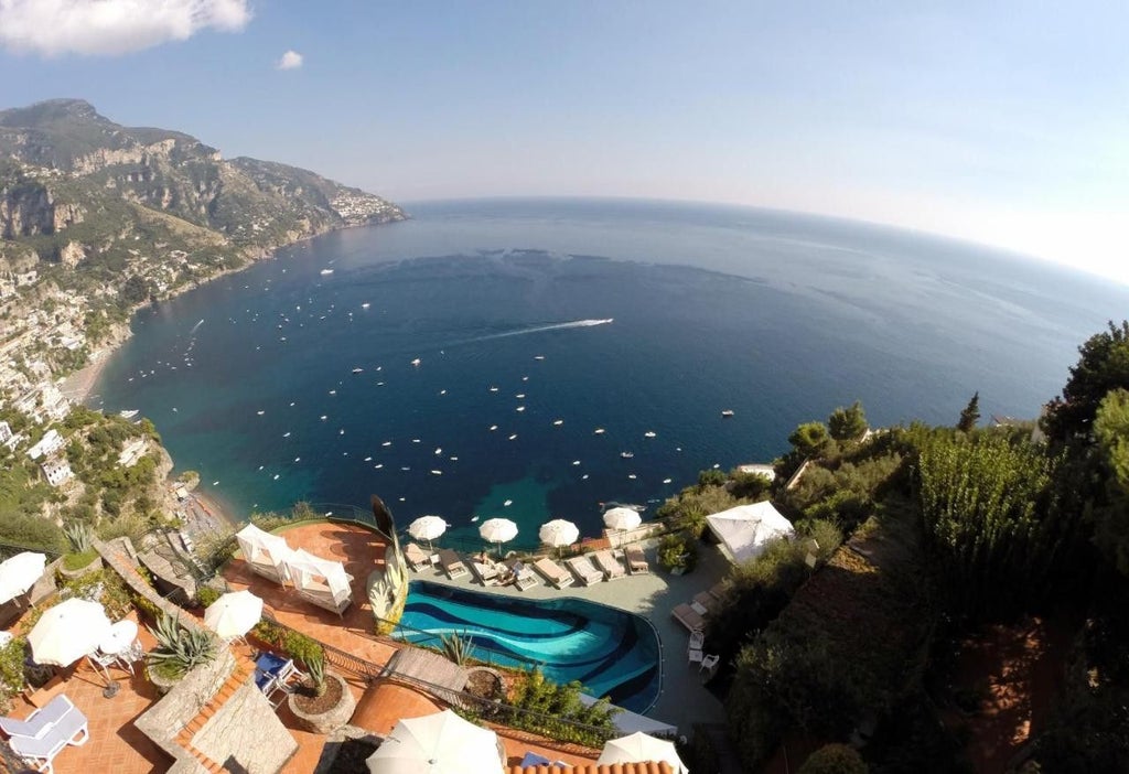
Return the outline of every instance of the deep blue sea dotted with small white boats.
[[[1129,288],[875,225],[633,200],[418,203],[146,308],[91,401],[152,420],[236,519],[379,495],[454,540],[598,535],[706,468],[872,426],[1031,419]],[[732,412],[732,416],[723,416]]]

